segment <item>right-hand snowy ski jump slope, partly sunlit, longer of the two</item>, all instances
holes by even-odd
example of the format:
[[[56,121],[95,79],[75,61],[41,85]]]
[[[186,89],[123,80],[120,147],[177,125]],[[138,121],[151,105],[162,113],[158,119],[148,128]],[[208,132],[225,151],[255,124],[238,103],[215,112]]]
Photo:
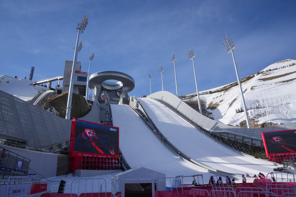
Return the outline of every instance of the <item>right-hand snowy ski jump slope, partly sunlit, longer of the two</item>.
[[[163,104],[139,98],[160,132],[182,153],[211,168],[229,174],[268,174],[277,164],[233,151],[193,128]]]

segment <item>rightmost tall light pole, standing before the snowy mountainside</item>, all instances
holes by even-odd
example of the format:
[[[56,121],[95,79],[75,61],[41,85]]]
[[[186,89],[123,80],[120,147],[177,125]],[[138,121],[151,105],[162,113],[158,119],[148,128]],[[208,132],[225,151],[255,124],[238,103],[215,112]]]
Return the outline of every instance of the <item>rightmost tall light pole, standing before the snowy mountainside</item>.
[[[240,91],[241,91],[241,101],[243,103],[243,107],[244,107],[244,111],[245,111],[245,118],[246,118],[247,127],[251,128],[250,120],[249,120],[249,116],[248,116],[248,111],[246,108],[245,98],[244,98],[243,90],[241,88],[241,81],[240,81],[240,78],[239,78],[239,75],[237,72],[237,67],[236,67],[236,63],[235,63],[235,59],[234,59],[234,55],[233,55],[233,50],[236,48],[236,46],[233,44],[232,39],[230,39],[230,36],[227,37],[227,35],[226,35],[226,38],[224,39],[223,44],[224,44],[226,52],[227,53],[231,52],[231,54],[232,54],[236,77],[237,77],[237,82],[238,82],[238,86],[240,87]]]

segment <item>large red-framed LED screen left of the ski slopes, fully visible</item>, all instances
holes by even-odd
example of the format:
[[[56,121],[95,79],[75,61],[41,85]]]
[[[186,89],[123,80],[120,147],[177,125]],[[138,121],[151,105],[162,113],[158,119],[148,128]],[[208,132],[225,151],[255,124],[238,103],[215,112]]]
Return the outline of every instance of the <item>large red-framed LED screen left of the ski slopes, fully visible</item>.
[[[119,157],[119,128],[72,120],[70,157]]]

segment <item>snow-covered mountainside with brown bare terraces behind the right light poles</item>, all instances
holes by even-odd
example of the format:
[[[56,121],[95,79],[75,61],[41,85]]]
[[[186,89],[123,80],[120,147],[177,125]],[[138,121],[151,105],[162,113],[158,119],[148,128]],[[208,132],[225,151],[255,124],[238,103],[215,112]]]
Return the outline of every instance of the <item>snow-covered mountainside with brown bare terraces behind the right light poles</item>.
[[[274,63],[243,80],[241,86],[251,125],[296,122],[296,60]],[[197,97],[186,100],[190,99]],[[245,120],[237,82],[201,91],[200,99],[215,121],[235,126]]]

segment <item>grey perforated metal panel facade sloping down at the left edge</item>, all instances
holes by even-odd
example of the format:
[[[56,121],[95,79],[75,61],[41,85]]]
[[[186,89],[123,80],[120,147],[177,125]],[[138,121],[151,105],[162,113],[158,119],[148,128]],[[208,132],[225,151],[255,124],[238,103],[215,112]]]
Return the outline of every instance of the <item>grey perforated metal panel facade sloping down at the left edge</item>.
[[[71,120],[0,91],[0,137],[44,147],[70,137]]]

